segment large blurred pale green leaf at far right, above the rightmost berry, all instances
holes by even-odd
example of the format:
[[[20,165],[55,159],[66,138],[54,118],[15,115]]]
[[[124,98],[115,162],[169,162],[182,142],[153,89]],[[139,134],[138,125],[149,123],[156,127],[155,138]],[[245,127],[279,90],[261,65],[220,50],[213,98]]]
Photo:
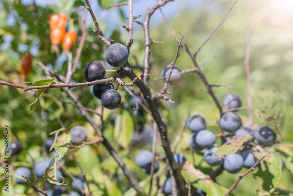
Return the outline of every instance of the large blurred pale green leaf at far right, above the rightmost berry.
[[[253,111],[268,127],[281,135],[285,123],[285,103],[272,89],[255,86],[252,93]]]

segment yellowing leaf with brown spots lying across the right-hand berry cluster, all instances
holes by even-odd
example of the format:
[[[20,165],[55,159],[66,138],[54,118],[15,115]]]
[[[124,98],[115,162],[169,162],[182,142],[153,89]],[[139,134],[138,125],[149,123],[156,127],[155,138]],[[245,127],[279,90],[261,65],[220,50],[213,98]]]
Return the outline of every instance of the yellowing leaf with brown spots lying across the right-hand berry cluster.
[[[224,143],[222,146],[219,147],[214,155],[221,157],[224,155],[237,153],[243,143],[247,142],[249,138],[251,138],[251,135],[247,134],[246,136],[235,138],[230,142]]]

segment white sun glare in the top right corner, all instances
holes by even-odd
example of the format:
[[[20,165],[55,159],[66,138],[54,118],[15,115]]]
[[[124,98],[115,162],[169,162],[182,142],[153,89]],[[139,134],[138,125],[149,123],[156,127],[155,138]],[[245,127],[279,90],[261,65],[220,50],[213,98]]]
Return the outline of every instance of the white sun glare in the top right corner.
[[[293,1],[292,0],[265,0],[262,8],[270,19],[282,26],[293,26]]]

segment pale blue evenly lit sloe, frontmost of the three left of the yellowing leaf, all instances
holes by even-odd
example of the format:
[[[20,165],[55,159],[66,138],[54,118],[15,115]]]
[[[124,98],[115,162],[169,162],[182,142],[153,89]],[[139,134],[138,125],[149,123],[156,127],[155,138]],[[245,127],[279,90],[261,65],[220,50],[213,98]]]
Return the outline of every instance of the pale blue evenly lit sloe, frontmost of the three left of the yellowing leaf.
[[[195,141],[200,148],[212,148],[216,137],[211,131],[202,130],[197,133]]]

